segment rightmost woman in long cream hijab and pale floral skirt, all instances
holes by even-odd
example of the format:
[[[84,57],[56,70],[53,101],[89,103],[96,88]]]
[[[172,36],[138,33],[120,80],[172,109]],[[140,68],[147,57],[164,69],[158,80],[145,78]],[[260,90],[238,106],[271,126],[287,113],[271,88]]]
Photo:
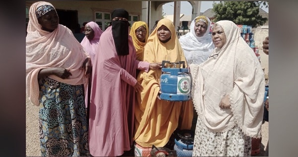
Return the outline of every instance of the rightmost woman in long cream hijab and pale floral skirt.
[[[191,97],[198,112],[193,157],[249,157],[261,137],[265,78],[255,53],[232,21],[212,30],[215,50],[190,64]]]

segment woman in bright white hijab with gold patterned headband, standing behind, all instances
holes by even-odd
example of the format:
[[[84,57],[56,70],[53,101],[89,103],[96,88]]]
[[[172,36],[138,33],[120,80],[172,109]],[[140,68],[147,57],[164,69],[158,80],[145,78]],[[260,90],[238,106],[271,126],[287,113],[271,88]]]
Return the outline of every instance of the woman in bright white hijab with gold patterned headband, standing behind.
[[[198,16],[191,22],[190,32],[179,38],[187,64],[204,62],[215,48],[209,35],[210,25],[208,17]]]

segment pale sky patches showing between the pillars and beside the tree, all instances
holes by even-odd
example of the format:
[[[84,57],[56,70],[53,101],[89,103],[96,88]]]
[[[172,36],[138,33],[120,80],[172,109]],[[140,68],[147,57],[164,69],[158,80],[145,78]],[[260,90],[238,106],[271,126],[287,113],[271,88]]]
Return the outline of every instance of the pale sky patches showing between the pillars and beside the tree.
[[[213,8],[212,3],[213,2],[220,2],[220,1],[202,1],[201,3],[201,12],[206,11],[209,8]],[[163,12],[165,15],[172,15],[174,14],[174,2],[168,2],[162,6]],[[266,12],[268,12],[268,8],[265,8],[264,6],[262,9]],[[191,15],[191,5],[188,1],[181,1],[181,9],[180,13],[185,15]]]

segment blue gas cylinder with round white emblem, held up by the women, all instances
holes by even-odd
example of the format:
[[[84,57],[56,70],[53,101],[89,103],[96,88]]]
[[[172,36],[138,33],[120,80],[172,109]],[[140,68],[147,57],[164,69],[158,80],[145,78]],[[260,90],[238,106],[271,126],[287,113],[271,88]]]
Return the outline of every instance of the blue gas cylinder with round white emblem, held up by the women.
[[[174,64],[174,67],[165,67],[165,63]],[[180,68],[180,64],[183,68]],[[177,67],[177,65],[179,67]],[[190,100],[191,77],[189,69],[185,68],[185,62],[162,61],[160,76],[159,98],[167,101],[188,101]]]

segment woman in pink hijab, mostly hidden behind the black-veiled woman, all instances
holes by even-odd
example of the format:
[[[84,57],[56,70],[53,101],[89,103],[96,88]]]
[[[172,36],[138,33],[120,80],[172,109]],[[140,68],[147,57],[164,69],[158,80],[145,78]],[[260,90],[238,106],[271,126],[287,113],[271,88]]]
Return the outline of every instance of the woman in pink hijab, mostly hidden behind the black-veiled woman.
[[[91,58],[91,63],[94,62],[94,56],[98,52],[98,43],[100,36],[102,34],[102,30],[99,28],[98,24],[90,21],[87,24],[85,24],[85,29],[84,29],[84,34],[85,37],[81,41],[81,45],[84,48],[85,52],[90,56]],[[90,74],[91,75],[91,74]],[[87,87],[87,92],[85,94],[85,105],[87,107],[87,116],[89,117],[89,103],[90,103],[90,90],[91,90],[91,77],[89,77],[88,81],[88,87]]]

